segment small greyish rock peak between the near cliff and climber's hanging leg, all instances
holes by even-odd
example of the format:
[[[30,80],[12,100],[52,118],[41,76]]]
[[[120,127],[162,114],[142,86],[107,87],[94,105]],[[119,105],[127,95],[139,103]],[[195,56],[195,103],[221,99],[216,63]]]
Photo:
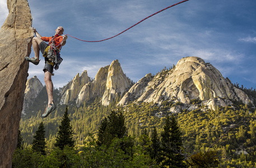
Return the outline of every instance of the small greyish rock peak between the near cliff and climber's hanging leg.
[[[27,80],[22,113],[24,113],[25,108],[27,108],[29,104],[32,104],[35,98],[38,97],[43,88],[44,85],[39,81],[38,77],[34,76]]]

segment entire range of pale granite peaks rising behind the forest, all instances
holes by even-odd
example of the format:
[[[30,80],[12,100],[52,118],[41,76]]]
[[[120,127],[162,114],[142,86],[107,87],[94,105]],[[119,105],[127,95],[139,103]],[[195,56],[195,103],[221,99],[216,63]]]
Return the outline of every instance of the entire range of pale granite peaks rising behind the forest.
[[[33,77],[27,82],[24,106],[33,101],[43,88],[36,79]],[[81,76],[78,73],[59,92],[61,99],[57,103],[60,105],[76,103],[80,106],[95,97],[101,97],[104,106],[117,99],[120,100],[118,106],[129,102],[153,102],[158,105],[166,101],[181,102],[182,105],[170,109],[175,113],[184,109],[197,109],[191,103],[193,101],[201,101],[205,109],[213,110],[217,106],[231,105],[232,100],[244,104],[253,102],[215,67],[198,57],[182,58],[176,66],[162,69],[155,76],[146,74],[134,85],[123,73],[118,60],[114,60],[110,66],[100,68],[94,80],[88,77],[87,71],[82,72]]]

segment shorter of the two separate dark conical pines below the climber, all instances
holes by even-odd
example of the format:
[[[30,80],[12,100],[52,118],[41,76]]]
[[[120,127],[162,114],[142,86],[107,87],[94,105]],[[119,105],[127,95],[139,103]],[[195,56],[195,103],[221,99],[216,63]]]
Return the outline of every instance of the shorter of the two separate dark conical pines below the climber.
[[[35,132],[34,140],[32,142],[32,150],[41,153],[42,155],[46,155],[45,148],[45,130],[44,123],[41,122],[39,124],[38,130]]]

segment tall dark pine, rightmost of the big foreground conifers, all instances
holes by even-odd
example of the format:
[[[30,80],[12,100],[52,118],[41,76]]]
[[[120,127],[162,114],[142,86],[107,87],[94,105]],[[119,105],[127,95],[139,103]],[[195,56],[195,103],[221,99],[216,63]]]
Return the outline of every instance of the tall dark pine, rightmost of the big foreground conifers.
[[[181,155],[183,145],[181,132],[174,116],[166,116],[164,131],[161,133],[162,166],[184,167],[184,157]]]

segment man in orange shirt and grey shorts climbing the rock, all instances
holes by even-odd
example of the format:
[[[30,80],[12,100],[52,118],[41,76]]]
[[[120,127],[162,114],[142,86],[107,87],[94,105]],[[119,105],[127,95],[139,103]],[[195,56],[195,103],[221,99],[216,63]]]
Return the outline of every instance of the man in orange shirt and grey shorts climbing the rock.
[[[56,109],[56,105],[53,101],[53,68],[57,70],[59,64],[62,62],[59,52],[61,47],[66,44],[67,36],[62,36],[64,31],[62,26],[57,27],[55,30],[55,35],[52,37],[42,37],[34,27],[32,27],[32,30],[35,32],[35,37],[32,39],[35,57],[25,57],[25,59],[35,65],[38,65],[40,62],[39,50],[43,54],[43,57],[45,57],[45,66],[43,71],[46,91],[48,94],[48,104],[46,105],[44,114],[42,115],[42,117],[45,118]],[[49,44],[46,44],[45,41],[48,41]]]

